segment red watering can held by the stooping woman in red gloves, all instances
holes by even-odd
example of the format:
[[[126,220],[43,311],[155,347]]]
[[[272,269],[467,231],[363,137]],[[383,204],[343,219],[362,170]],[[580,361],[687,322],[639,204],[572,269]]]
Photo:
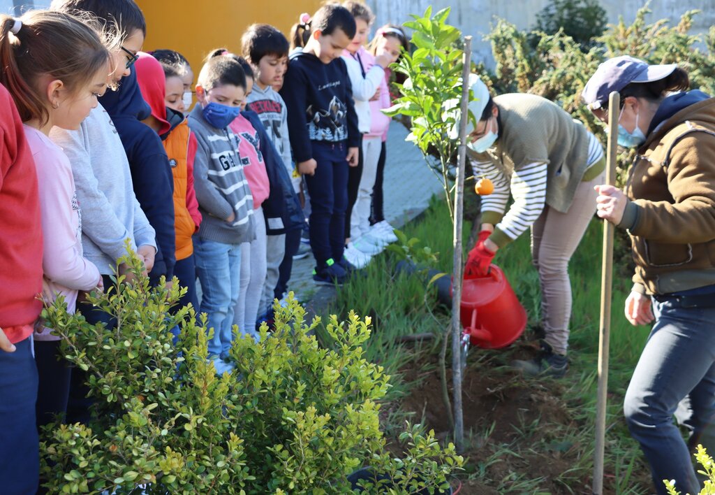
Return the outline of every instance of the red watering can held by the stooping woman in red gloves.
[[[465,340],[484,349],[513,343],[526,328],[526,309],[504,277],[491,265],[484,277],[465,277],[462,284],[460,320]]]

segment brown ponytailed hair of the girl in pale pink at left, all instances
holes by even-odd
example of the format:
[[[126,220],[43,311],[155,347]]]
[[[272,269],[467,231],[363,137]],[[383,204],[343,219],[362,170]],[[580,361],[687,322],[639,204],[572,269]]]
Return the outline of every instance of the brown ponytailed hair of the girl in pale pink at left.
[[[61,80],[69,92],[85,85],[107,68],[107,44],[98,24],[56,11],[29,11],[21,18],[0,16],[0,83],[12,95],[21,119],[49,119],[46,95],[35,88],[40,77]]]

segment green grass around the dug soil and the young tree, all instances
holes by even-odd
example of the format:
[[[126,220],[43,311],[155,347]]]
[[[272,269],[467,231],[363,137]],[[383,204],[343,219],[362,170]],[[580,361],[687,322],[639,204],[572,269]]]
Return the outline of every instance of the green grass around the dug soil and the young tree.
[[[470,225],[465,223],[465,240]],[[596,418],[596,363],[598,360],[598,315],[601,294],[602,224],[593,221],[578,246],[569,267],[573,289],[573,311],[569,359],[571,369],[566,380],[546,380],[558,383],[571,415],[566,425],[554,424],[549,418],[519,418],[513,428],[513,441],[494,441],[494,424],[482,430],[467,431],[467,444],[475,451],[485,451],[484,456],[469,459],[466,478],[479,479],[497,489],[499,493],[540,493],[546,481],[543,476],[526,476],[518,469],[503,469],[500,475],[490,478],[495,467],[518,466],[536,452],[551,452],[573,458],[573,466],[564,469],[548,486],[558,486],[558,493],[581,493],[591,480],[593,460],[593,431]],[[408,238],[415,237],[438,251],[433,268],[449,272],[452,265],[452,226],[444,203],[434,199],[425,214],[416,222],[405,226]],[[622,242],[621,239],[617,239]],[[623,249],[621,246],[620,249]],[[434,362],[438,353],[439,338],[424,342],[403,344],[404,335],[433,332],[437,337],[449,325],[449,314],[438,308],[433,291],[425,294],[425,281],[420,277],[394,273],[398,260],[394,254],[375,257],[364,270],[363,277],[355,277],[338,291],[331,313],[347,314],[355,309],[358,314],[373,317],[374,331],[365,345],[368,357],[385,367],[393,375],[392,389],[383,405],[384,430],[399,431],[405,418],[420,420],[424,410],[400,410],[400,399],[419,385],[430,373],[437,373]],[[529,325],[536,325],[540,316],[538,274],[531,264],[528,235],[499,251],[494,260],[512,284],[518,299],[526,307]],[[642,350],[649,329],[632,327],[623,317],[623,304],[631,282],[619,274],[616,267],[613,285],[611,317],[611,353],[609,366],[609,403],[606,439],[606,484],[610,483],[616,494],[646,493],[648,470],[637,443],[628,434],[622,420],[621,404],[633,367]],[[472,350],[468,358],[470,370],[485,367],[488,362],[506,363],[510,350]],[[449,358],[448,358],[449,359]],[[421,373],[414,373],[415,368]],[[499,373],[499,367],[495,368]],[[409,372],[409,373],[408,373]],[[409,377],[408,377],[409,375]],[[515,385],[513,376],[509,378]],[[541,380],[516,378],[515,386],[538,387]],[[510,386],[511,386],[510,385]],[[548,385],[548,384],[547,384]],[[549,385],[550,386],[550,385]],[[498,420],[497,420],[498,423]],[[548,434],[536,435],[547,428]],[[476,458],[478,457],[478,458]],[[548,492],[548,490],[547,490]]]

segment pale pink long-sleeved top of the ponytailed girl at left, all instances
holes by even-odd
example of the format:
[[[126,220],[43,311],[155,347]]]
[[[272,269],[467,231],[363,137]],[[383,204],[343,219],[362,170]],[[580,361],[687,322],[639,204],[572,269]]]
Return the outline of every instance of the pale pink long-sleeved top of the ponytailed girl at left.
[[[82,257],[82,213],[74,191],[69,159],[46,135],[24,126],[27,143],[35,160],[39,184],[43,234],[42,270],[54,296],[61,295],[67,311],[74,313],[78,290],[99,284],[99,270]],[[44,329],[36,340],[59,340]]]

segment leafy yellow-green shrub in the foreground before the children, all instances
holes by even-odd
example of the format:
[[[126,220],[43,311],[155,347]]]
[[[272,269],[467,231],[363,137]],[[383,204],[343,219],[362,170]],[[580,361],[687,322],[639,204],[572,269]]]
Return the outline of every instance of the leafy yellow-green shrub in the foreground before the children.
[[[276,307],[272,335],[264,325],[260,343],[235,340],[235,370],[217,378],[203,319],[190,308],[169,314],[178,284],[150,288],[139,261],[126,261],[137,282],[118,277],[89,297],[117,318],[113,330],[66,314],[61,301],[44,311],[66,359],[87,370],[94,398],[88,426],[44,432],[51,493],[345,493],[347,474],[368,465],[387,476],[375,490],[410,493],[445,486],[461,466],[453,446],[439,448],[418,427],[408,428],[403,458],[385,451],[378,401],[389,377],[363,356],[369,318],[331,317],[335,346],[322,349],[312,335],[319,320],[307,325],[290,299]]]

